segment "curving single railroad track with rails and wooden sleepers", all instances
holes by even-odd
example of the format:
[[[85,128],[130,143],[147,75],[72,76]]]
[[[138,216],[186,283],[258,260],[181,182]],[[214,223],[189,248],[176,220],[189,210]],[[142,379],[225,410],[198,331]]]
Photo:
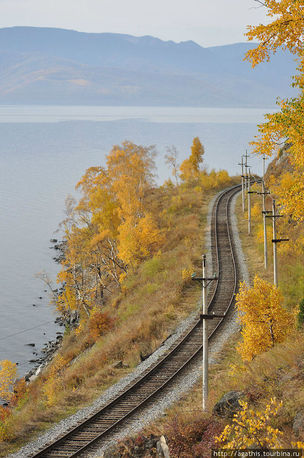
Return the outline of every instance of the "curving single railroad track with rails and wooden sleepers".
[[[219,280],[212,281],[208,293],[208,313],[227,313],[234,301],[239,280],[238,267],[234,259],[234,243],[230,227],[231,198],[240,186],[233,186],[220,194],[212,209],[211,259],[212,271]],[[215,284],[216,283],[216,284]],[[209,338],[219,329],[223,318],[209,322]],[[69,428],[53,442],[35,453],[31,458],[72,458],[81,454],[96,441],[113,432],[126,419],[142,407],[150,404],[179,374],[187,370],[202,350],[202,322],[199,314],[192,325],[167,350],[156,363],[133,380],[107,405],[96,410],[88,418]]]

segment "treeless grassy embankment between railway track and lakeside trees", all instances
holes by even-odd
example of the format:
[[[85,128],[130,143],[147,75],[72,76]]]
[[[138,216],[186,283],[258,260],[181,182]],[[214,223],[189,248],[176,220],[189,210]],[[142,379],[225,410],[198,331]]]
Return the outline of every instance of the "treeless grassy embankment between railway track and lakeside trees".
[[[218,189],[161,187],[149,196],[149,209],[165,234],[161,251],[130,271],[123,291],[108,300],[106,309],[117,319],[112,332],[93,346],[87,329],[65,337],[62,354],[72,361],[65,390],[59,386],[56,403],[48,407],[43,394],[48,369],[31,384],[27,401],[8,425],[13,440],[0,443],[0,456],[90,404],[138,364],[140,351],[153,351],[197,307],[200,288],[189,281],[189,273],[183,278],[182,271],[200,269],[204,238],[198,235],[204,233],[209,202]],[[119,359],[130,368],[113,369],[111,363]]]

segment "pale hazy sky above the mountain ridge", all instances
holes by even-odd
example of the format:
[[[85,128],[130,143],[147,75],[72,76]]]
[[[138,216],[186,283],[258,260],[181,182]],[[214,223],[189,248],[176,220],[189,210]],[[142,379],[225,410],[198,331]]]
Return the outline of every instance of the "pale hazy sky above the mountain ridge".
[[[257,6],[254,0],[0,0],[0,27],[62,27],[216,46],[246,41],[246,25],[265,22],[265,8]]]

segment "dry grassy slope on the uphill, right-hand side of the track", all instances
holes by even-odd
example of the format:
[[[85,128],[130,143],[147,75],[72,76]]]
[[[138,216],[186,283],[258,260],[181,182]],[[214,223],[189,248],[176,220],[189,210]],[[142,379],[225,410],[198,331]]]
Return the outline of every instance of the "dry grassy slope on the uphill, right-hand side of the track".
[[[253,194],[252,194],[253,195]],[[269,268],[264,269],[263,244],[256,238],[258,218],[253,218],[253,231],[248,235],[248,220],[242,213],[241,198],[236,205],[238,229],[242,248],[247,259],[250,279],[256,272],[268,281],[273,281],[272,244],[268,247]],[[271,237],[272,238],[272,237]],[[285,257],[279,251],[279,284],[282,287],[286,305],[298,303],[303,295],[300,278],[303,275],[301,255]],[[275,426],[283,431],[283,448],[290,448],[291,442],[304,440],[304,433],[296,437],[292,432],[292,422],[296,412],[304,408],[304,333],[295,335],[257,357],[246,366],[246,371],[230,375],[230,364],[240,363],[235,346],[240,333],[232,336],[218,355],[218,362],[210,368],[209,411],[222,395],[230,390],[244,390],[255,409],[265,409],[273,396],[283,400],[283,406],[276,417]],[[210,456],[210,448],[215,447],[214,436],[224,427],[224,421],[215,421],[208,426],[206,418],[210,413],[202,412],[201,381],[191,392],[180,400],[166,416],[149,425],[143,435],[165,434],[168,437],[172,458],[194,458]],[[212,433],[210,433],[212,430]]]

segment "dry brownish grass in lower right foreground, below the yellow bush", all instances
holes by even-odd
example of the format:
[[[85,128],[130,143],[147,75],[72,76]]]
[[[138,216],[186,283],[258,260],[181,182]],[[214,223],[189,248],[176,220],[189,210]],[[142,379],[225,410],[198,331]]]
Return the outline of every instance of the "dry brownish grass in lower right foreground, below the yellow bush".
[[[202,381],[199,381],[163,417],[146,426],[139,437],[166,435],[172,458],[210,456],[211,448],[216,448],[215,436],[227,421],[214,418],[212,408],[224,393],[242,390],[256,410],[264,410],[271,397],[283,401],[272,424],[283,432],[283,448],[291,448],[291,442],[303,441],[304,432],[296,437],[292,423],[295,414],[304,408],[304,333],[295,333],[284,344],[247,363],[244,371],[231,375],[230,364],[240,363],[235,352],[239,338],[239,333],[231,336],[218,354],[217,364],[210,367],[209,412],[202,411]]]

